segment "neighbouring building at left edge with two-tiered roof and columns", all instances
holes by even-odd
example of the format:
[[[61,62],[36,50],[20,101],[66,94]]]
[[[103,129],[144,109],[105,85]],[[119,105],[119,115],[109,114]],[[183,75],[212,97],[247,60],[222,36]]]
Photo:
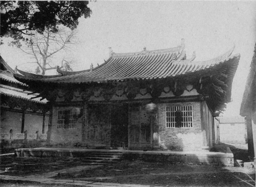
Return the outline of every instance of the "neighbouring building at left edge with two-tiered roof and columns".
[[[49,108],[46,99],[35,98],[28,85],[17,81],[14,70],[0,56],[0,138],[46,138]]]

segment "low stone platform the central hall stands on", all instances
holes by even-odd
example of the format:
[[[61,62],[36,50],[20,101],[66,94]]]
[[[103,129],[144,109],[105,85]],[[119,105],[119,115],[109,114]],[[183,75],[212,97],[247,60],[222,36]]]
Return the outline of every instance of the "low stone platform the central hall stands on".
[[[16,156],[34,157],[87,157],[92,152],[121,153],[122,159],[143,160],[160,163],[189,163],[205,165],[234,166],[234,155],[232,152],[178,152],[159,150],[98,150],[83,148],[22,148],[16,149]]]

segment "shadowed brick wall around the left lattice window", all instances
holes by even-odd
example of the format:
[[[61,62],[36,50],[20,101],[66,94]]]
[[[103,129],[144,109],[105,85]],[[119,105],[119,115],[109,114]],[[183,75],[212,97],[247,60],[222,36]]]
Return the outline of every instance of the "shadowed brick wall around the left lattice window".
[[[51,141],[50,144],[62,144],[64,146],[74,146],[75,143],[82,142],[82,121],[83,118],[78,118],[76,122],[76,129],[58,129],[58,110],[64,108],[77,108],[77,107],[53,107],[52,113],[52,128],[51,128]]]

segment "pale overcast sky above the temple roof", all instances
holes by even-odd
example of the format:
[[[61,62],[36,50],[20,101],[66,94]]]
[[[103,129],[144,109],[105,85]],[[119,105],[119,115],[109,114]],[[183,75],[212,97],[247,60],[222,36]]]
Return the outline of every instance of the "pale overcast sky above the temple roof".
[[[81,45],[72,56],[78,63],[74,71],[89,69],[108,59],[108,47],[116,53],[176,47],[185,39],[189,58],[208,60],[236,45],[241,58],[232,86],[233,102],[225,116],[239,115],[242,94],[256,42],[256,3],[253,1],[97,1],[90,2],[92,15],[80,18]],[[8,64],[29,69],[26,55],[6,44],[0,53]],[[25,63],[25,64],[24,64]]]

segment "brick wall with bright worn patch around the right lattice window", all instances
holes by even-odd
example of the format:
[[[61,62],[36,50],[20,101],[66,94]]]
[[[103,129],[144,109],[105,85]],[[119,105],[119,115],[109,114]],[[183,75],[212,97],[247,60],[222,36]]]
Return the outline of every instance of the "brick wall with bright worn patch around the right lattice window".
[[[166,106],[193,106],[192,128],[166,128]],[[177,151],[202,150],[200,102],[158,104],[160,148]]]

